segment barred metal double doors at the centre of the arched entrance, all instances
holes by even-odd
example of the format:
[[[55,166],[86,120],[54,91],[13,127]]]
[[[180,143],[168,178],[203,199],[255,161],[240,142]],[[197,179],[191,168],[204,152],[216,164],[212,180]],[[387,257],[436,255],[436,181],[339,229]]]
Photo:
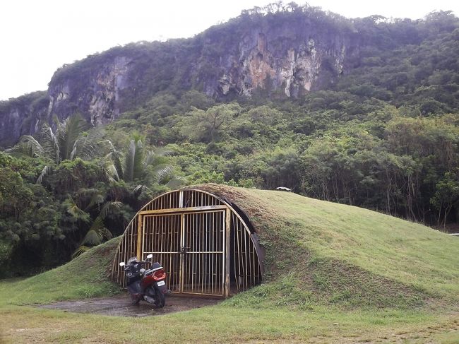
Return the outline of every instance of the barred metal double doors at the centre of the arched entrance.
[[[145,213],[140,256],[162,263],[172,292],[225,296],[226,215],[225,209]]]

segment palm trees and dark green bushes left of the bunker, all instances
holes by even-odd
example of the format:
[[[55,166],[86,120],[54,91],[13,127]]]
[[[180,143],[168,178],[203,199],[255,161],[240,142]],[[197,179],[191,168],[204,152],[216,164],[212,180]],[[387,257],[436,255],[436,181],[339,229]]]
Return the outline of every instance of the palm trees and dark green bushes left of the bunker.
[[[144,148],[138,138],[124,155],[100,129],[86,127],[70,117],[55,131],[44,126],[37,138],[23,137],[9,150],[18,158],[0,153],[0,244],[16,261],[1,275],[30,274],[78,256],[121,234],[147,195],[181,184],[167,148]]]

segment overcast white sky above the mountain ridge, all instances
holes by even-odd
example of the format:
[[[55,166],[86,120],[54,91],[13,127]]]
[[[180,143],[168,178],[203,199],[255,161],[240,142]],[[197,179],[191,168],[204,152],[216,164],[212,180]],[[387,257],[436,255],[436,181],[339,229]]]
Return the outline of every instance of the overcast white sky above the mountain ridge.
[[[46,90],[62,64],[115,45],[191,37],[243,9],[274,0],[8,0],[0,4],[0,100]],[[286,3],[290,0],[286,0]],[[304,1],[296,1],[304,4]],[[459,1],[310,0],[348,18],[381,14],[422,18],[434,10],[459,15]]]

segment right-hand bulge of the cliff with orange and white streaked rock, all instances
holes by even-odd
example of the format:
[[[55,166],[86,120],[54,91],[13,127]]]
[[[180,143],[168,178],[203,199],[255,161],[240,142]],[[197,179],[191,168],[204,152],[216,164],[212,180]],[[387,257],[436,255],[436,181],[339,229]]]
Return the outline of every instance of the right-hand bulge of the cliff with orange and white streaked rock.
[[[358,56],[352,32],[333,25],[321,28],[304,18],[282,19],[261,21],[241,32],[237,45],[214,61],[220,71],[208,79],[205,93],[251,97],[259,88],[301,97],[335,82]]]

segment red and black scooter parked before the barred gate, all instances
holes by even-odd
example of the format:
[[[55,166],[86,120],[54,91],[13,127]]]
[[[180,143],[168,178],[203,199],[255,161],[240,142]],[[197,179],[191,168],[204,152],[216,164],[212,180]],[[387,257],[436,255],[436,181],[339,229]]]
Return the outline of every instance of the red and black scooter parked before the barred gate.
[[[147,259],[153,258],[148,254]],[[129,259],[128,263],[121,261],[119,266],[124,266],[127,276],[126,288],[131,295],[132,304],[138,304],[144,299],[156,307],[164,307],[168,290],[166,287],[166,273],[160,263],[153,263],[150,269],[145,270],[142,266],[149,261],[138,261],[136,257]]]

